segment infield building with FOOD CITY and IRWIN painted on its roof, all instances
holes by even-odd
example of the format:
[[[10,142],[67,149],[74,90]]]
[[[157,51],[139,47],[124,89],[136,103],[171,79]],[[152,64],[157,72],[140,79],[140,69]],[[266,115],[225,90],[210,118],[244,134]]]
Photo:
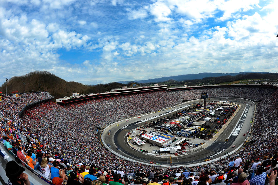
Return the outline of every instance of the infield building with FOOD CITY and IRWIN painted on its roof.
[[[173,140],[175,139],[175,136],[168,135],[164,133],[160,133],[157,131],[151,131],[149,133],[145,133],[140,136],[141,140],[146,140],[146,142],[149,142],[151,144],[155,144],[160,147],[167,147],[169,146]]]

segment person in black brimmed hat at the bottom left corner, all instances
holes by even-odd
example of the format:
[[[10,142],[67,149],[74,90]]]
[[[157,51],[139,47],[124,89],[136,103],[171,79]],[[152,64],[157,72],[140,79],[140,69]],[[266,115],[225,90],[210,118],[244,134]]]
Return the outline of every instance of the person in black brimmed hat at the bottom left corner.
[[[9,185],[33,185],[33,183],[29,181],[28,175],[26,173],[23,173],[25,169],[19,166],[15,161],[9,161],[6,165],[5,171],[9,179]]]

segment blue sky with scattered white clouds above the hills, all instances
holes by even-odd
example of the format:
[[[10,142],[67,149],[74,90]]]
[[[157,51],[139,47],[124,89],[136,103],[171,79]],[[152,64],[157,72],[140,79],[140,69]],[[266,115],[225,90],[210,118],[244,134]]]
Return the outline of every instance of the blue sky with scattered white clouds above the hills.
[[[34,70],[84,84],[277,72],[277,7],[268,0],[0,0],[0,83]]]

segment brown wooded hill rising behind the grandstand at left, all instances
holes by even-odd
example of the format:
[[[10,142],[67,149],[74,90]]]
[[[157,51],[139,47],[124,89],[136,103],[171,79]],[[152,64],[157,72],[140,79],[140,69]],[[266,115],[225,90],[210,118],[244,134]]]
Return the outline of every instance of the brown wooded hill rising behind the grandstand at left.
[[[79,92],[80,94],[105,92],[108,89],[121,88],[127,86],[120,83],[108,83],[98,85],[84,85],[78,82],[67,82],[58,76],[47,71],[34,71],[23,76],[14,76],[9,79],[7,83],[7,93],[13,91],[23,92],[23,83],[25,92],[39,91],[41,84],[41,91],[48,91],[54,98],[61,98],[63,96],[71,96],[72,92]],[[128,84],[128,86],[131,83]],[[0,91],[6,94],[6,82],[0,87]]]

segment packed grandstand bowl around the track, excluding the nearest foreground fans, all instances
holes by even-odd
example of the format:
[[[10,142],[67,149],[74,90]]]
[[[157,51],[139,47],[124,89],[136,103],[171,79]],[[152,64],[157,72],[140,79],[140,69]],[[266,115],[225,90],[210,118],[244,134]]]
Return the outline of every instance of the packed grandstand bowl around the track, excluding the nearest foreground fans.
[[[184,172],[184,167],[154,167],[117,157],[101,145],[97,138],[96,126],[105,126],[125,118],[158,111],[178,105],[184,100],[199,99],[204,90],[210,97],[237,97],[259,102],[252,128],[252,142],[245,144],[229,157],[210,164],[193,166],[195,171],[205,171],[211,166],[226,168],[231,158],[237,158],[236,155],[240,155],[244,161],[242,168],[245,167],[245,171],[253,160],[261,160],[265,155],[266,158],[277,157],[278,90],[262,87],[153,91],[78,101],[65,107],[48,100],[53,97],[47,92],[25,93],[18,97],[3,96],[3,101],[0,102],[0,136],[4,139],[10,138],[13,147],[25,138],[26,144],[34,146],[38,151],[51,153],[57,159],[75,164],[98,166],[98,169],[122,168],[125,174],[134,175],[138,170],[146,171],[148,174],[152,170],[158,173]],[[19,116],[22,109],[30,104],[33,105]],[[18,132],[23,133],[24,138],[20,138]],[[34,153],[36,154],[35,151]]]

